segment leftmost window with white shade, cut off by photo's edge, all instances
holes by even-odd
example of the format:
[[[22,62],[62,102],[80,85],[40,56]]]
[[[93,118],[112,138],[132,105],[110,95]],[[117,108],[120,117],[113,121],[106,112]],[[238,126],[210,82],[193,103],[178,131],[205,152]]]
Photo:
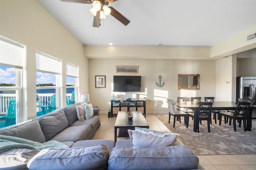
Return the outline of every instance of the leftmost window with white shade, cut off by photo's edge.
[[[0,46],[0,128],[2,128],[22,121],[24,46],[2,36],[0,36]],[[6,121],[5,116],[12,116],[14,119]]]

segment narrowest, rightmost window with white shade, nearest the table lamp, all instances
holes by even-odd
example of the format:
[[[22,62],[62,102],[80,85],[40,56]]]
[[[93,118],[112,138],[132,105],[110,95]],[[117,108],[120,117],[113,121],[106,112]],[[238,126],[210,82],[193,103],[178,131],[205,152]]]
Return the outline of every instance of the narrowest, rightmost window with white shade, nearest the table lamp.
[[[66,104],[74,104],[78,95],[78,66],[66,63]]]

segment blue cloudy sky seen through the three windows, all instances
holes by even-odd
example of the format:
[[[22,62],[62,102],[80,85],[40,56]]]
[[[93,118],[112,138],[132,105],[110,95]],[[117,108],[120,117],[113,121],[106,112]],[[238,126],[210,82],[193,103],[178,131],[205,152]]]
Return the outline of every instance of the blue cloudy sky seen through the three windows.
[[[74,78],[67,77],[67,84],[74,84]],[[15,68],[0,66],[0,83],[15,84]],[[36,84],[56,84],[54,74],[36,72]]]

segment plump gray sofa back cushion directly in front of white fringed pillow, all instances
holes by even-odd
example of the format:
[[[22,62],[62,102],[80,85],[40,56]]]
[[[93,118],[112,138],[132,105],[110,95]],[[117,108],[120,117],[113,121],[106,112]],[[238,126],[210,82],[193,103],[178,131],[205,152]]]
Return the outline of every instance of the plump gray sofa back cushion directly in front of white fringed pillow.
[[[198,163],[196,154],[185,145],[158,148],[115,147],[110,152],[108,170],[188,170],[197,169]]]

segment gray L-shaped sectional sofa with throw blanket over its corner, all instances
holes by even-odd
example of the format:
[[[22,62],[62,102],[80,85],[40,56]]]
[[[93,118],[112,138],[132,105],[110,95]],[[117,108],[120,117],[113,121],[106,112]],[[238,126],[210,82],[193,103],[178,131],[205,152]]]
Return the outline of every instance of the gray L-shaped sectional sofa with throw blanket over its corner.
[[[76,105],[0,129],[0,169],[202,169],[194,152],[178,141],[178,146],[141,149],[132,148],[130,140],[115,147],[113,140],[92,140],[100,127],[99,108],[79,121]]]

